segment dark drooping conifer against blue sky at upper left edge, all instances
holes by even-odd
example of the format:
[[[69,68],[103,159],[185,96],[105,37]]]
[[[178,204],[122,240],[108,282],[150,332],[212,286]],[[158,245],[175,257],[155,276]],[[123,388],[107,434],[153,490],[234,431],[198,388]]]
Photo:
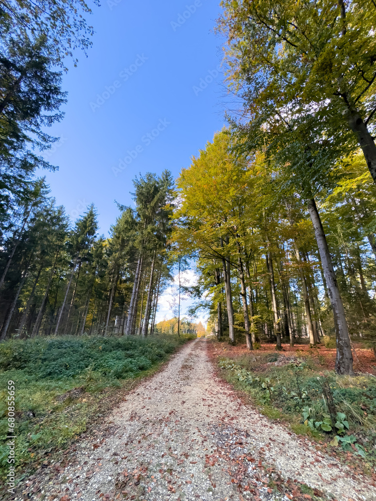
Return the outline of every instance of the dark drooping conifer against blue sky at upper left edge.
[[[0,48],[0,212],[20,198],[33,198],[37,168],[54,169],[35,150],[50,148],[56,138],[45,128],[60,121],[66,102],[61,72],[53,69],[46,39],[11,40]]]

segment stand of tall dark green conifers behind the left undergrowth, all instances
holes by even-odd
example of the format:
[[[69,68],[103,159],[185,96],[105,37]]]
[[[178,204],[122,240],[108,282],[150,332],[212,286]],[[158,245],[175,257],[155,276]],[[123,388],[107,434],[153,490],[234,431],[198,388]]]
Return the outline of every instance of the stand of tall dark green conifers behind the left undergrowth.
[[[169,277],[173,180],[134,180],[136,208],[121,207],[110,237],[98,236],[93,205],[72,229],[46,196],[10,215],[0,250],[0,338],[37,335],[152,334]]]

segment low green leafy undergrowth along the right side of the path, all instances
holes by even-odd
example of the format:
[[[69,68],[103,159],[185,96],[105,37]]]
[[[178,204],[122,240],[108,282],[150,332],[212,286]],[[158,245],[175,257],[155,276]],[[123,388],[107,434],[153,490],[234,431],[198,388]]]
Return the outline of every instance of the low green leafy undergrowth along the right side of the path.
[[[221,357],[219,365],[270,419],[363,458],[366,469],[376,464],[376,378],[338,376],[311,357],[291,361],[275,352]]]

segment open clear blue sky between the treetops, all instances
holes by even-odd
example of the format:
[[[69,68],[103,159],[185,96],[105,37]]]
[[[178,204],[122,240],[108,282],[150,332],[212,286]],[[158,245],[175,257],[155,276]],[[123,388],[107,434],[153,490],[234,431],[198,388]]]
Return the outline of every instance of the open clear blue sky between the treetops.
[[[51,194],[73,219],[93,202],[105,236],[135,175],[176,177],[213,139],[226,94],[217,2],[116,2],[93,8],[93,47],[64,75],[66,115],[49,130],[61,137],[48,153]]]

